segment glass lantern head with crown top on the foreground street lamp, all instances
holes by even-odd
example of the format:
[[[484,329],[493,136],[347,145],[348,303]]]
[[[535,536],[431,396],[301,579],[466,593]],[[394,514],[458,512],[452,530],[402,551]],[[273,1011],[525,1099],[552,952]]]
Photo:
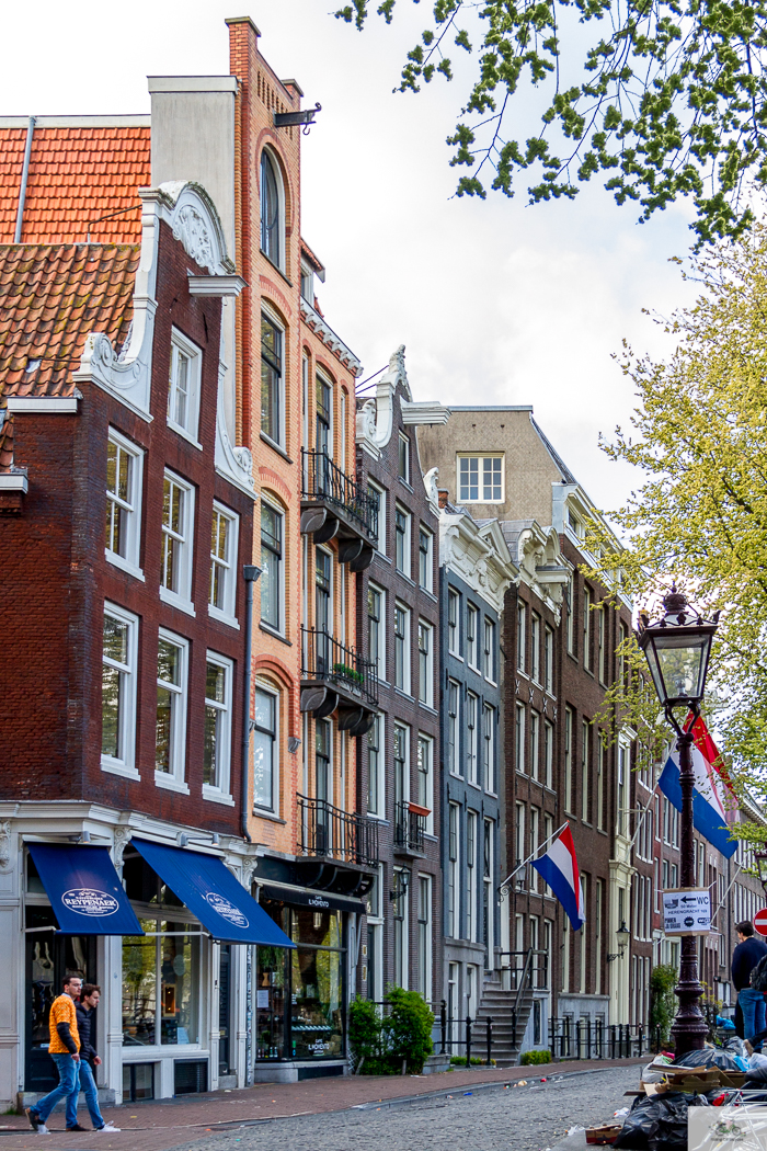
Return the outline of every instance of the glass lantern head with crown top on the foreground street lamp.
[[[645,625],[638,637],[658,698],[665,708],[700,703],[716,623],[690,611],[677,592],[666,596],[664,608],[664,618]]]

